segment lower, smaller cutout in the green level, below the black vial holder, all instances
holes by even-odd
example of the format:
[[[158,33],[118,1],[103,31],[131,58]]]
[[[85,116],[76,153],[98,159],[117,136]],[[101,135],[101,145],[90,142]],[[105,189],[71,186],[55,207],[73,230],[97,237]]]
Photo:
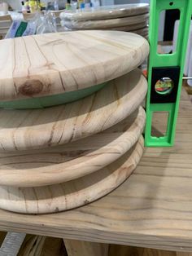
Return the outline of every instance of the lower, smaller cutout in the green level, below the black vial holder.
[[[152,127],[151,136],[152,137],[165,137],[168,132],[168,116],[167,111],[154,112],[152,115]]]

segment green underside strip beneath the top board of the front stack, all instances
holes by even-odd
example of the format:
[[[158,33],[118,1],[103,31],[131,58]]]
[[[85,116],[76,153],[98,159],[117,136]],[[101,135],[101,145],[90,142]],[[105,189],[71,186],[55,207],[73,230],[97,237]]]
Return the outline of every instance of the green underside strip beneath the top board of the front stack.
[[[60,104],[68,104],[78,99],[94,94],[101,90],[107,83],[91,86],[89,88],[68,91],[59,95],[50,95],[38,98],[16,99],[13,101],[0,101],[0,108],[7,109],[28,109],[28,108],[47,108]]]

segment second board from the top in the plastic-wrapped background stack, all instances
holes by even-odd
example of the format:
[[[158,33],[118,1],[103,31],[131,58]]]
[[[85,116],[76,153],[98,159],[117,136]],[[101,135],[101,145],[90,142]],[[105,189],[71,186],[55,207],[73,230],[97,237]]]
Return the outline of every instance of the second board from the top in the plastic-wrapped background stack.
[[[111,29],[113,27],[128,26],[131,24],[146,23],[149,19],[149,14],[135,15],[130,17],[123,17],[109,20],[65,20],[64,26],[68,29]]]

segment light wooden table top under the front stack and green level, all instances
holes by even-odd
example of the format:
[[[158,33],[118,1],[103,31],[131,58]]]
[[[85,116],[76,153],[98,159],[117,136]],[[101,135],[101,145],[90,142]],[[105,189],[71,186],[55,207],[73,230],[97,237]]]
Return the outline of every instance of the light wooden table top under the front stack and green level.
[[[182,93],[173,148],[146,148],[133,175],[94,203],[59,214],[0,210],[0,229],[192,251],[192,105]],[[156,119],[155,129],[163,122]]]

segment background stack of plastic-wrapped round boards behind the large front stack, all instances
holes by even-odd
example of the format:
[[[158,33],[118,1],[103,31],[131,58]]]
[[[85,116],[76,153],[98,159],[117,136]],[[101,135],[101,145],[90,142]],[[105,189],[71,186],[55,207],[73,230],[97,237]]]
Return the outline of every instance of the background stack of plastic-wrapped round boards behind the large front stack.
[[[60,14],[64,28],[71,30],[110,29],[148,36],[149,5],[145,3],[98,7]]]

